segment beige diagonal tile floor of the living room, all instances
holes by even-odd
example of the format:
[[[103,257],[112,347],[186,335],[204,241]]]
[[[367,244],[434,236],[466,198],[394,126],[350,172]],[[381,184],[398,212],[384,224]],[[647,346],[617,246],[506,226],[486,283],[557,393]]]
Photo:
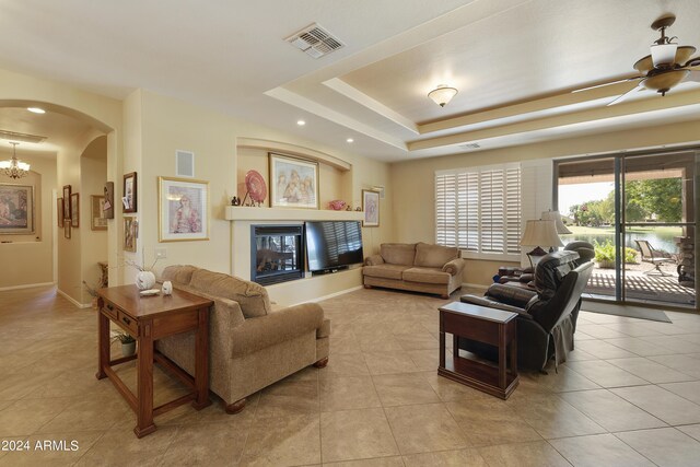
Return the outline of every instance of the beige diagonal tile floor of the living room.
[[[323,302],[326,369],[264,389],[237,416],[215,397],[199,412],[180,407],[138,440],[126,401],[94,376],[94,312],[49,288],[0,292],[0,439],[32,447],[0,451],[0,466],[700,464],[699,316],[584,312],[570,361],[522,374],[503,401],[436,375],[443,303],[381,290]],[[135,385],[132,365],[119,373]],[[156,404],[182,392],[155,380]],[[45,441],[68,448],[38,451]]]

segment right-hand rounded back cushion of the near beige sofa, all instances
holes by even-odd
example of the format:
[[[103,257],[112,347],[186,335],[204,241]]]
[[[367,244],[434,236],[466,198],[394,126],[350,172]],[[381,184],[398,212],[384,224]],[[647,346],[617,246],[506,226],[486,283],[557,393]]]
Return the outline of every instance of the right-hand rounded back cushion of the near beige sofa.
[[[210,295],[223,296],[238,302],[246,318],[265,316],[271,312],[267,290],[255,282],[222,272],[197,269],[192,272],[190,285]]]

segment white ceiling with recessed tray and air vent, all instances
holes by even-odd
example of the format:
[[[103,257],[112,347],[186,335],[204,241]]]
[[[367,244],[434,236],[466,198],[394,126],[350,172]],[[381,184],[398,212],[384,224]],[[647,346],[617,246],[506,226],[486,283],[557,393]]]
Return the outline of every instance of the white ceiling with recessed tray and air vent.
[[[0,68],[116,98],[142,87],[401,161],[700,118],[697,83],[611,107],[633,83],[570,93],[634,75],[667,12],[670,35],[700,46],[697,0],[0,0]],[[313,59],[284,42],[314,22],[345,47]],[[441,108],[427,93],[443,83],[459,93]],[[49,143],[84,131],[18,112],[0,109],[0,128]]]

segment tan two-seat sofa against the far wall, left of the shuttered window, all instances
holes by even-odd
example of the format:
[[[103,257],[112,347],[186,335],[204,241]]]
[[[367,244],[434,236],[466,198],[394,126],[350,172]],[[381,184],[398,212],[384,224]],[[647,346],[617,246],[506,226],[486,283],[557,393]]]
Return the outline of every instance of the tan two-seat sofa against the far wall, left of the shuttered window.
[[[427,243],[383,243],[362,268],[364,287],[436,293],[446,299],[462,287],[464,260],[458,248]]]

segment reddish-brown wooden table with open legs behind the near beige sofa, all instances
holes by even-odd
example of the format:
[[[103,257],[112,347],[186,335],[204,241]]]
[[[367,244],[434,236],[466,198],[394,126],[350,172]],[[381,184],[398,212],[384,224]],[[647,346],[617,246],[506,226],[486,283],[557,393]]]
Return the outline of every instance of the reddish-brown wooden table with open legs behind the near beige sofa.
[[[192,406],[203,409],[209,406],[209,307],[211,300],[173,290],[172,295],[141,296],[136,285],[119,285],[97,291],[97,380],[108,376],[117,390],[129,402],[137,415],[133,432],[138,437],[155,431],[153,417],[192,400]],[[116,323],[133,336],[138,353],[112,360],[109,355],[109,322]],[[163,337],[196,330],[195,377],[153,348]],[[137,360],[137,394],[124,384],[112,369],[119,363]],[[183,397],[153,408],[153,361],[185,383],[191,392]]]

